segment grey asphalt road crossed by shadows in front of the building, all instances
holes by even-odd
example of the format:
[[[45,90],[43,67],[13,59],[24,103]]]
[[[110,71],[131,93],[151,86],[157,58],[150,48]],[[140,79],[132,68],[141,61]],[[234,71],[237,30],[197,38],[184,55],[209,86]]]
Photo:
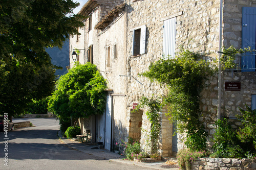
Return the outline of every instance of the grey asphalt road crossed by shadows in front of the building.
[[[66,147],[57,138],[56,118],[22,120],[31,121],[35,127],[8,131],[7,137],[4,132],[0,132],[0,169],[148,169],[102,160]],[[13,119],[13,122],[19,121]]]

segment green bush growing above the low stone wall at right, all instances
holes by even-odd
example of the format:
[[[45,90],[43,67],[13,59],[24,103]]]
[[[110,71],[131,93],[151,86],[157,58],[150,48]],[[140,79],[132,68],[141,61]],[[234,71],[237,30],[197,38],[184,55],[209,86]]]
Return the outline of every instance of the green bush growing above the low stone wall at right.
[[[243,127],[233,129],[231,123],[226,118],[218,120],[216,133],[214,134],[212,146],[218,157],[225,158],[254,158],[256,157],[255,149],[255,111],[247,107],[247,111],[241,109],[241,118]]]

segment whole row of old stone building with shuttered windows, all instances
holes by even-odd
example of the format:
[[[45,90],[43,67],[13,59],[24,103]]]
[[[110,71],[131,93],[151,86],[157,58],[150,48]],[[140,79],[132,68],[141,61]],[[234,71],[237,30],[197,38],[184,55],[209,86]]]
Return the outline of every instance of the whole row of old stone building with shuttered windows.
[[[112,2],[112,6],[103,5],[105,2]],[[254,49],[255,7],[253,0],[89,0],[79,12],[89,16],[84,21],[86,26],[79,29],[80,36],[71,36],[70,61],[73,49],[83,49],[79,62],[96,64],[109,89],[106,112],[102,116],[81,118],[83,129],[90,129],[92,140],[103,141],[109,150],[120,138],[127,140],[127,137],[140,139],[144,148],[146,137],[141,129],[149,131],[151,125],[144,110],[132,110],[141,96],[157,96],[166,90],[138,75],[164,56],[175,58],[180,46],[207,54],[205,60],[218,58],[222,45]],[[237,61],[238,69],[220,71],[202,92],[201,109],[205,116],[200,120],[209,138],[215,133],[214,123],[218,118],[234,119],[239,107],[244,108],[245,104],[255,108],[255,56],[238,56]],[[70,65],[73,66],[72,62]],[[230,90],[231,84],[238,88]],[[170,156],[185,147],[184,134],[173,136],[174,127],[165,113],[163,108],[159,153]]]

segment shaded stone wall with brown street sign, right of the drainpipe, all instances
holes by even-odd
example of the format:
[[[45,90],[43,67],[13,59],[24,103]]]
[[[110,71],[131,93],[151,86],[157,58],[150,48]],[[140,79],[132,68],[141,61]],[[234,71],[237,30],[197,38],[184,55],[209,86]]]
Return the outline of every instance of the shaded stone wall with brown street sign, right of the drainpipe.
[[[256,2],[254,0],[224,1],[223,45],[226,47],[233,45],[236,48],[241,48],[242,7],[256,7]],[[235,115],[240,114],[239,107],[242,109],[245,109],[245,105],[251,107],[251,94],[256,94],[256,86],[254,85],[256,72],[223,71],[222,77],[222,116],[234,118]],[[241,82],[241,90],[226,91],[225,82]],[[238,127],[240,124],[238,121],[233,121],[233,127]]]

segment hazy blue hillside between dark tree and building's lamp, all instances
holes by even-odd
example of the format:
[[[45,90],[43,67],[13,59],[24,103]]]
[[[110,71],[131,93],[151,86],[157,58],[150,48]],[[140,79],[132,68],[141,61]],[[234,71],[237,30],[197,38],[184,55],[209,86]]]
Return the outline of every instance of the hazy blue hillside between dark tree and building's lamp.
[[[51,56],[53,65],[62,67],[56,70],[55,75],[58,77],[65,75],[68,72],[66,66],[69,65],[69,39],[65,41],[61,49],[47,48],[46,52]]]

